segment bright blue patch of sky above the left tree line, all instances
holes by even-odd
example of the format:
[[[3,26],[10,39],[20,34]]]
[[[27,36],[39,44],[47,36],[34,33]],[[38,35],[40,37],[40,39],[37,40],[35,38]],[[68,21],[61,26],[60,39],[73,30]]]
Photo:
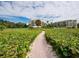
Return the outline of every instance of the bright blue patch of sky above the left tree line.
[[[9,15],[0,15],[0,19],[3,20],[7,20],[7,21],[11,21],[11,22],[22,22],[22,23],[28,23],[31,20],[27,17],[23,17],[23,16],[9,16]]]

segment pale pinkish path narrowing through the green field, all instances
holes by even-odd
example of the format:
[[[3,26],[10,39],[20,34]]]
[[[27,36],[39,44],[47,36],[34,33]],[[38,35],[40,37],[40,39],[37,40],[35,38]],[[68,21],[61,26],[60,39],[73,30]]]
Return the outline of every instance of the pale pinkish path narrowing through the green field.
[[[42,31],[31,46],[32,50],[28,53],[29,58],[56,58],[50,45],[47,44],[45,32]]]

